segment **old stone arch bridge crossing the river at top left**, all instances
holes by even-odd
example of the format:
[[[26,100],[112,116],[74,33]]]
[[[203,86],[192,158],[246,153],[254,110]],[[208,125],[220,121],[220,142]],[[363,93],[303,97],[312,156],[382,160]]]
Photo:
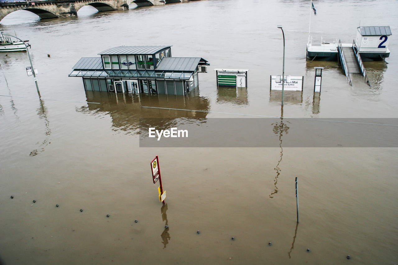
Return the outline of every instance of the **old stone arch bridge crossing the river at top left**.
[[[17,10],[27,10],[40,18],[61,18],[77,16],[80,8],[93,6],[98,11],[129,9],[129,3],[137,6],[154,6],[169,3],[188,2],[190,0],[39,0],[27,2],[0,2],[0,21]]]

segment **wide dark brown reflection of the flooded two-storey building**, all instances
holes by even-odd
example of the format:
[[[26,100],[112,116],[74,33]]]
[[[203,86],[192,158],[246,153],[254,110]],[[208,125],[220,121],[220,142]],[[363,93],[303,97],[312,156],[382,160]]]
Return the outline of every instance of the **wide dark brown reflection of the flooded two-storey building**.
[[[87,102],[100,104],[90,104],[78,108],[76,111],[89,113],[92,115],[104,114],[112,118],[112,126],[115,131],[123,131],[126,134],[138,134],[140,129],[140,119],[145,125],[145,118],[193,118],[196,121],[206,119],[209,111],[210,101],[206,97],[199,96],[198,91],[193,91],[189,95],[156,95],[156,94],[126,94],[112,92],[86,92]],[[142,108],[160,107],[165,109]],[[170,109],[167,109],[170,108]],[[176,109],[192,109],[192,111],[181,111]],[[200,110],[200,111],[195,111]],[[176,121],[170,120],[151,127],[175,127]],[[189,121],[188,121],[189,122]],[[191,121],[192,122],[192,121]],[[148,128],[147,125],[144,126]]]

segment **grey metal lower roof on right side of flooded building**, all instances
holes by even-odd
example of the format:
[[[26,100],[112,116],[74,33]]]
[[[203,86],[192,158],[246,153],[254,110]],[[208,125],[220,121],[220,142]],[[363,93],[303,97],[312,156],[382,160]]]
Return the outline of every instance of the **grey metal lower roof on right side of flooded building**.
[[[203,58],[164,57],[156,66],[156,70],[195,71],[199,62],[208,64],[207,60]]]

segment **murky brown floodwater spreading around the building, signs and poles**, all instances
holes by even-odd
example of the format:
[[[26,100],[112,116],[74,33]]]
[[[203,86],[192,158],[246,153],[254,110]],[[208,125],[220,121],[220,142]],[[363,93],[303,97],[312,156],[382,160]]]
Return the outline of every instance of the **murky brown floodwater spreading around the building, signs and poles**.
[[[283,117],[396,118],[398,2],[314,2],[314,39],[351,43],[359,25],[390,26],[390,57],[365,62],[372,87],[359,77],[347,84],[337,62],[306,60],[309,6],[201,0],[84,8],[75,18],[40,21],[23,11],[4,18],[5,34],[15,31],[32,45],[41,99],[25,72],[27,54],[0,54],[7,80],[0,72],[2,262],[396,264],[395,147],[284,146],[283,136],[294,133],[288,118],[275,125],[275,148],[139,147],[139,118],[206,126],[209,118],[237,118],[230,113],[280,117],[280,97],[269,92],[269,76],[282,70],[278,24],[285,74],[304,76],[303,92],[285,98]],[[174,57],[203,57],[211,66],[199,74],[199,91],[185,97],[86,93],[81,78],[68,77],[81,57],[122,43],[173,45]],[[324,67],[320,97],[312,92],[315,66]],[[214,68],[249,69],[247,92],[217,89]],[[149,168],[156,155],[164,206]]]

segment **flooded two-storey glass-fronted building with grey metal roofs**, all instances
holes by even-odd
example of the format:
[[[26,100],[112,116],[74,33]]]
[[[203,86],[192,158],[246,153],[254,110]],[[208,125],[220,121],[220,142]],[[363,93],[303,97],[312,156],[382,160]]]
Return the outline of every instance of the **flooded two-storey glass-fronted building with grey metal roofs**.
[[[86,91],[186,95],[199,86],[203,58],[172,57],[171,46],[120,46],[81,58],[69,76],[83,78]]]

